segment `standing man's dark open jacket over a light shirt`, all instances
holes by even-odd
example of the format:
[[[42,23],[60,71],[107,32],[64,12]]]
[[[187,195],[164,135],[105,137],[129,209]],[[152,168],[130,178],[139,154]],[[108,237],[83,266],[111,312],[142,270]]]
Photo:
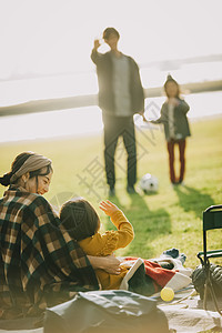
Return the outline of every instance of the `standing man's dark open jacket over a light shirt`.
[[[130,63],[130,98],[132,114],[144,110],[144,92],[140,79],[139,67],[135,61],[125,56]],[[99,107],[103,112],[113,114],[115,112],[113,93],[113,63],[111,51],[102,54],[92,50],[91,59],[97,65],[99,83]]]

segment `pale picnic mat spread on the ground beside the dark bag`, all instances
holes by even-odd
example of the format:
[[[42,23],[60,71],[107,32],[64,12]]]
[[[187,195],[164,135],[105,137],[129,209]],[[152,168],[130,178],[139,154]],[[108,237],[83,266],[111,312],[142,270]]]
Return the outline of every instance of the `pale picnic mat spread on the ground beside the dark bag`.
[[[163,302],[155,296],[158,306],[165,313],[172,332],[204,332],[211,329],[222,331],[222,316],[215,311],[214,304],[208,301],[208,311],[203,310],[200,300],[192,287],[175,293],[172,302]],[[219,302],[222,309],[222,300]],[[36,319],[0,321],[0,333],[43,333],[43,327],[34,329]],[[149,331],[148,331],[149,332]]]

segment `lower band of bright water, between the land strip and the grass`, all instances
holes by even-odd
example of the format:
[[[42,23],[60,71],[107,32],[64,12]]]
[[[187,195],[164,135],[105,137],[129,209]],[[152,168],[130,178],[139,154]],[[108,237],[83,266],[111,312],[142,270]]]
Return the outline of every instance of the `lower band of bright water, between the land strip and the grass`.
[[[205,92],[185,95],[191,107],[188,117],[190,120],[203,117],[222,115],[222,92]],[[147,99],[147,117],[153,119],[158,115],[164,97]],[[149,105],[155,103],[155,114],[149,112]],[[140,122],[138,122],[140,125]],[[102,117],[98,107],[72,110],[50,111],[0,118],[0,142],[37,140],[67,135],[89,135],[101,133]]]

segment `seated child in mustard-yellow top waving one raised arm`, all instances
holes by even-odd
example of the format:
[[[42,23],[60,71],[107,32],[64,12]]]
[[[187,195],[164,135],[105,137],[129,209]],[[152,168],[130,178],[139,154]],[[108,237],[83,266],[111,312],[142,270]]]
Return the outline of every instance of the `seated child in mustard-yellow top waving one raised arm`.
[[[111,218],[118,231],[112,230],[100,233],[99,216],[92,205],[82,198],[65,202],[60,211],[61,223],[88,255],[110,255],[114,250],[127,246],[134,236],[131,223],[115,204],[109,200],[102,201],[100,209]],[[165,264],[168,269],[164,269]],[[181,262],[180,264],[182,266]],[[109,274],[103,270],[95,270],[95,274],[103,290],[130,290],[150,296],[165,285],[165,276],[175,274],[169,273],[171,269],[165,259],[161,259],[159,264],[157,260],[153,262],[152,260],[125,256],[119,275]],[[175,283],[180,287],[188,285],[186,280],[189,280],[189,283],[191,282],[188,276],[182,276],[183,284]]]

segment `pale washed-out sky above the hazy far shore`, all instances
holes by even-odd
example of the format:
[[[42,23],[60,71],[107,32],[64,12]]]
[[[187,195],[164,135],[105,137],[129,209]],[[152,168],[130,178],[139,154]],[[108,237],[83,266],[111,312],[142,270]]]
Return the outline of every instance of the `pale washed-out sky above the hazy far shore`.
[[[221,0],[0,0],[0,79],[92,70],[107,27],[141,64],[222,54],[221,12]]]

